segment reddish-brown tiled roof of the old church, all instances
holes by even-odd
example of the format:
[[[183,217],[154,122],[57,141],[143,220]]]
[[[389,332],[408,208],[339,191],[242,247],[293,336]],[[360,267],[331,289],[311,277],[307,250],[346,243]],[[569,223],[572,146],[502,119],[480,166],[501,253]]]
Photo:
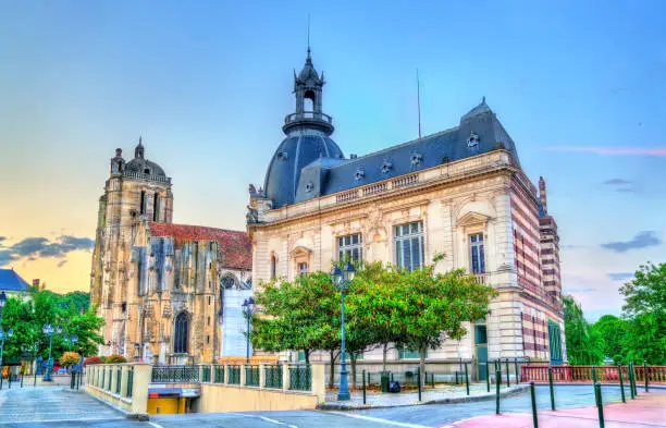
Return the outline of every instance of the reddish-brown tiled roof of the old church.
[[[202,225],[148,222],[151,236],[174,239],[176,247],[187,241],[217,241],[222,250],[223,267],[231,269],[252,268],[252,245],[245,232]]]

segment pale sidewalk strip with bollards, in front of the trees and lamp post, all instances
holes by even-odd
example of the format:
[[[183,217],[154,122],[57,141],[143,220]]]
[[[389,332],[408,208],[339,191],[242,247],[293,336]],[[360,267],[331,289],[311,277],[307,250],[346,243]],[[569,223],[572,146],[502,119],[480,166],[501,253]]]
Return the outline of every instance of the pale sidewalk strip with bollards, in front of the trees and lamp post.
[[[528,384],[513,384],[510,388],[502,386],[501,396],[507,396],[520,393],[529,388]],[[328,391],[326,401],[319,405],[320,409],[325,411],[354,411],[362,408],[386,408],[412,406],[417,404],[445,404],[445,403],[465,403],[471,401],[495,400],[494,386],[491,386],[491,392],[486,390],[485,383],[472,383],[469,386],[469,395],[465,386],[437,386],[435,389],[427,388],[421,393],[419,401],[418,392],[400,392],[400,393],[380,393],[368,391],[366,395],[366,405],[363,405],[362,391],[351,391],[349,401],[337,401],[337,391]]]

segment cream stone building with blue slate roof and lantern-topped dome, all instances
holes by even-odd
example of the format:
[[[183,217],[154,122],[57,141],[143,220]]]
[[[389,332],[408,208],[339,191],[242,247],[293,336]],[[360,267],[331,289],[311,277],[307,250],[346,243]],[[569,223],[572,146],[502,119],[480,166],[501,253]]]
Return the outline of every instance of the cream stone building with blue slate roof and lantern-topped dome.
[[[566,360],[559,237],[545,181],[538,192],[485,99],[444,131],[345,157],[323,113],[323,85],[308,49],[294,73],[286,138],[263,187],[250,186],[252,282],[330,271],[345,256],[416,269],[443,255],[437,271],[467,269],[498,296],[461,341],[430,350],[429,362],[473,358],[482,375],[489,358]],[[409,362],[418,353],[395,348],[391,357]]]

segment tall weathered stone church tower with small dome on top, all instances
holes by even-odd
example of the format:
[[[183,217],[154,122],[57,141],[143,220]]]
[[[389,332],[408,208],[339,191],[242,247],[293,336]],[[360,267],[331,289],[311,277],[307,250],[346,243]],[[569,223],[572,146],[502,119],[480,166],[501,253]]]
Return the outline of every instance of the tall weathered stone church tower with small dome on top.
[[[138,305],[130,269],[132,242],[146,221],[171,223],[171,178],[145,158],[141,138],[134,159],[125,162],[122,149],[111,158],[111,171],[99,198],[97,233],[90,273],[90,302],[104,318],[103,354],[121,353],[125,346],[128,306]]]

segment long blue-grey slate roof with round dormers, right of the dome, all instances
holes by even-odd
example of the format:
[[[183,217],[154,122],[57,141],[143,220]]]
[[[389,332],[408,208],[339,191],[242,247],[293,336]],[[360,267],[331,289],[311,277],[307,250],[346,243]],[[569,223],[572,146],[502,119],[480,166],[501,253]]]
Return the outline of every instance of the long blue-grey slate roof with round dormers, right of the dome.
[[[319,196],[351,189],[495,150],[498,143],[519,166],[514,140],[504,130],[485,99],[460,118],[458,126],[393,146],[355,159],[310,162],[294,176],[298,178],[295,198],[280,200],[300,203]],[[270,180],[269,180],[270,179]],[[267,175],[267,188],[271,180]],[[292,180],[292,179],[289,179]],[[271,197],[271,194],[268,194]],[[273,201],[273,208],[282,205]]]

